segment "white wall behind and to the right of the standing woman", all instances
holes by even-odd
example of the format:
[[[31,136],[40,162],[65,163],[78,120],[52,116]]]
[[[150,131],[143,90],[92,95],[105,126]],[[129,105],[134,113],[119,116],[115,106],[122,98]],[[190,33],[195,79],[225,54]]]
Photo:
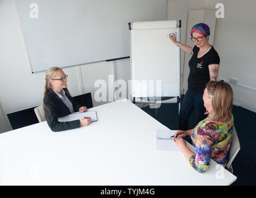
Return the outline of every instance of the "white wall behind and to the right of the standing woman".
[[[256,15],[254,0],[168,0],[167,20],[182,20],[181,42],[188,38],[188,9],[215,9],[224,4],[224,19],[216,20],[214,48],[221,58],[219,79],[231,84],[234,91],[234,104],[256,112]],[[191,28],[191,27],[189,27]],[[182,65],[184,55],[182,54]]]

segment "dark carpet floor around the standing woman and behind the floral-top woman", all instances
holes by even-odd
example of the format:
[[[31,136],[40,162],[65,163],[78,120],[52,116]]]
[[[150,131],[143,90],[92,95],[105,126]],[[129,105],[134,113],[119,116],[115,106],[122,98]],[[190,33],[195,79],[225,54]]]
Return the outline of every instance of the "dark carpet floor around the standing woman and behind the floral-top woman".
[[[160,108],[153,109],[146,106],[142,108],[146,113],[157,119],[164,126],[172,130],[179,129],[178,104],[161,104]],[[232,186],[256,185],[256,113],[241,107],[233,106],[234,125],[241,144],[241,150],[232,162],[234,175],[237,180]],[[195,115],[192,113],[189,128],[196,126]],[[191,143],[190,137],[185,138]]]

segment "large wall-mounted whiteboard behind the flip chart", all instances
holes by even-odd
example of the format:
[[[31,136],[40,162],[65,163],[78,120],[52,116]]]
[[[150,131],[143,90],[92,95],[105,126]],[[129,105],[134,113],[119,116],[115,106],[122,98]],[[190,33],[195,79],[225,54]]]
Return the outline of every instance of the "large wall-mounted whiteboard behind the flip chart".
[[[167,0],[15,2],[32,72],[128,57],[129,22],[166,20]]]

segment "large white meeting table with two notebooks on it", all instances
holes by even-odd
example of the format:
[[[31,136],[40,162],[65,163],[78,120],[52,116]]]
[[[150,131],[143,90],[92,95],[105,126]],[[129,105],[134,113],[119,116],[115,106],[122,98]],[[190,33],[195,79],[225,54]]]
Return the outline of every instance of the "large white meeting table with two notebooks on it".
[[[167,127],[130,101],[90,110],[97,111],[98,121],[79,129],[52,132],[43,122],[0,134],[0,184],[158,186],[236,181],[213,160],[208,171],[198,173],[181,152],[156,151],[156,130]]]

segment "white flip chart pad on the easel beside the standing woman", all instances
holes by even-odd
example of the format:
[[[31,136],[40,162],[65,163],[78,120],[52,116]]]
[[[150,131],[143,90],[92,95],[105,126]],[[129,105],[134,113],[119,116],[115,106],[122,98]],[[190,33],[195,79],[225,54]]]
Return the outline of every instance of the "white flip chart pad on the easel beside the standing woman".
[[[133,22],[131,26],[131,98],[179,97],[180,48],[169,38],[170,33],[179,38],[177,21]]]

